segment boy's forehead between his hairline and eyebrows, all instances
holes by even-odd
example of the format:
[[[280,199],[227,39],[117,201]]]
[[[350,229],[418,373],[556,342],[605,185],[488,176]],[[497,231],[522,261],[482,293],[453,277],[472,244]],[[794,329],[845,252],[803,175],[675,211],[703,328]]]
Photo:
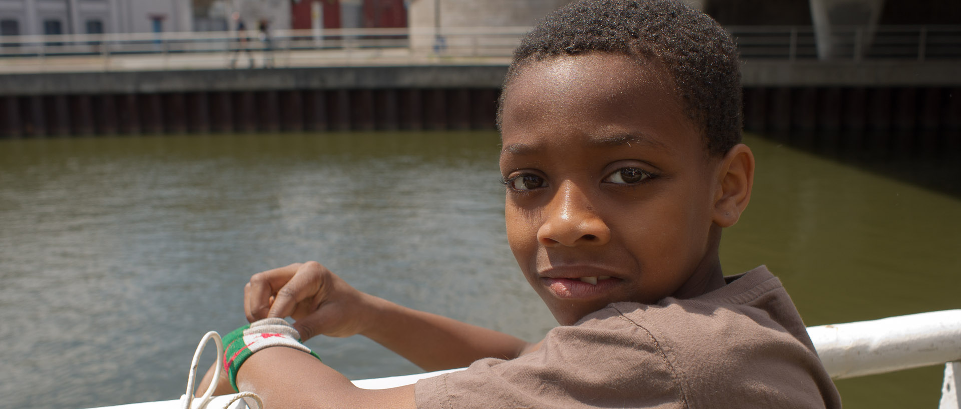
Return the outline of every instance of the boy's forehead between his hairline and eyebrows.
[[[502,155],[531,154],[545,143],[675,151],[673,139],[700,134],[693,128],[660,64],[604,53],[559,57],[530,63],[505,89]],[[695,142],[701,149],[700,137]]]

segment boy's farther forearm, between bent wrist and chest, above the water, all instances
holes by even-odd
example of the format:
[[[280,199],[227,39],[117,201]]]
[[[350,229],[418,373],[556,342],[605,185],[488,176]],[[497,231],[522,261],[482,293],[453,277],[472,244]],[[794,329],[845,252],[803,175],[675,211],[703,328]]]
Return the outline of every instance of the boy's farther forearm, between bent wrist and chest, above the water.
[[[532,349],[517,337],[378,299],[361,334],[425,371],[462,368],[487,357],[513,359]]]

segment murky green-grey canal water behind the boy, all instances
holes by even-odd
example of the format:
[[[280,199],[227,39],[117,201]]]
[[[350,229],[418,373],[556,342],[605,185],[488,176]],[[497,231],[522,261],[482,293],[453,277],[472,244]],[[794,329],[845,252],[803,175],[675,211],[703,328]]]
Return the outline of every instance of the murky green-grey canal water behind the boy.
[[[767,264],[807,325],[961,308],[961,201],[748,136],[728,274]],[[537,340],[493,132],[0,140],[0,407],[173,399],[250,275],[315,259],[362,291]],[[352,378],[417,372],[362,337]],[[208,351],[208,362],[212,353]],[[841,380],[848,408],[936,407],[941,367]]]

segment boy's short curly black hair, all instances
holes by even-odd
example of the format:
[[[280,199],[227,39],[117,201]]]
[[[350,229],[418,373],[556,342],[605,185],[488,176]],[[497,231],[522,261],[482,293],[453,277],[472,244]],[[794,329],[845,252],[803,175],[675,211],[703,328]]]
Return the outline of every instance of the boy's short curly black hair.
[[[507,69],[497,109],[532,61],[600,52],[660,60],[685,113],[700,126],[712,156],[741,141],[741,69],[734,39],[681,0],[581,0],[552,12],[521,41]]]

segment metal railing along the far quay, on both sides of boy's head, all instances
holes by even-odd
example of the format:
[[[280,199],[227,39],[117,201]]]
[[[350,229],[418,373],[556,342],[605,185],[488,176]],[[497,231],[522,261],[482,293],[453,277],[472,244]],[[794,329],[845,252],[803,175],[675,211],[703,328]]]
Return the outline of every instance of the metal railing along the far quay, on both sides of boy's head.
[[[395,63],[436,59],[487,59],[506,63],[529,28],[337,29],[140,33],[63,36],[0,36],[0,70],[38,70],[53,64],[87,69],[223,67],[257,53],[267,65]],[[743,60],[818,60],[811,26],[728,27]],[[961,60],[961,26],[832,27],[827,60]],[[825,54],[825,53],[823,53]],[[152,58],[141,63],[137,57]],[[158,60],[160,58],[160,60]],[[114,60],[123,60],[114,63]],[[434,59],[434,60],[431,60]],[[176,63],[171,64],[171,61]],[[130,62],[130,63],[128,63]],[[449,60],[449,62],[455,62]],[[241,63],[241,66],[243,64]],[[62,68],[69,68],[68,66]]]

